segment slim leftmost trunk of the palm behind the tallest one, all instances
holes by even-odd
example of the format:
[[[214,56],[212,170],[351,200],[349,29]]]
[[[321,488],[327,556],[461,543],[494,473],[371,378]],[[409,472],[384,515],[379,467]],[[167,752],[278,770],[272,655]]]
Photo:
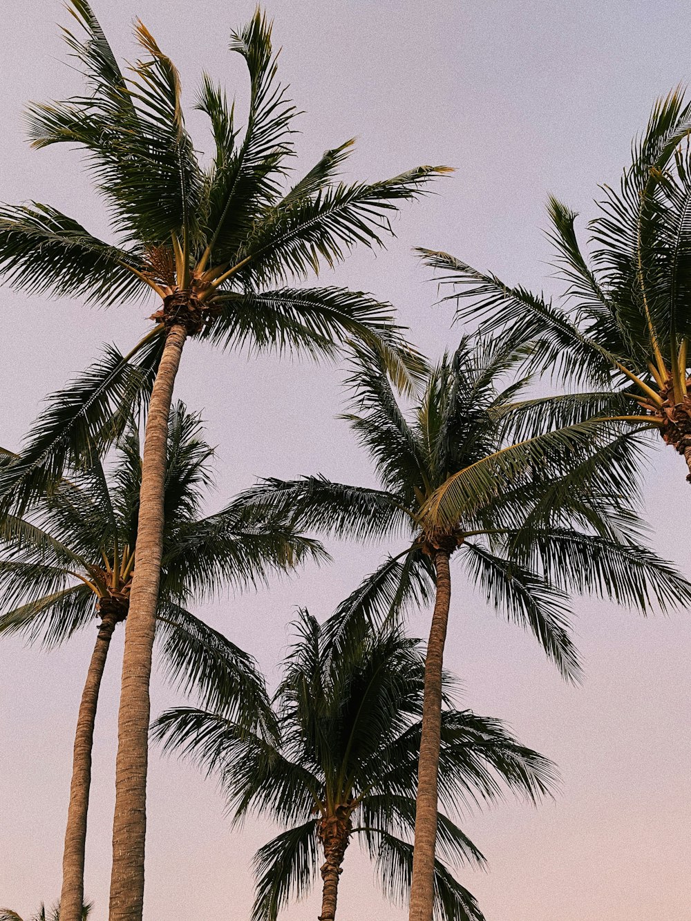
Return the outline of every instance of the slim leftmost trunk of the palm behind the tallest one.
[[[61,921],[82,921],[84,905],[84,855],[87,842],[88,790],[91,786],[91,750],[94,742],[96,708],[100,680],[106,665],[115,621],[104,618],[99,627],[94,651],[88,664],[79,715],[76,719],[72,784],[64,834],[63,891],[60,896]]]

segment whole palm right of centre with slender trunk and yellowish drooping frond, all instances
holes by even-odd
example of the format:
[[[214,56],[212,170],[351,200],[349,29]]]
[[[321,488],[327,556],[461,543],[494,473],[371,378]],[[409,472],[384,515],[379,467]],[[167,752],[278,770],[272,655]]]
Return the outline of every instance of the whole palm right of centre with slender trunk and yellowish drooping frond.
[[[568,632],[568,589],[646,610],[687,603],[690,587],[636,540],[627,495],[634,443],[601,424],[562,427],[514,443],[507,407],[529,383],[500,387],[525,350],[509,338],[463,339],[428,375],[406,414],[375,349],[354,351],[353,410],[345,418],[374,461],[381,488],[323,477],[268,480],[246,501],[292,514],[296,527],[340,538],[397,539],[343,602],[331,626],[335,655],[353,623],[397,616],[434,599],[427,644],[417,787],[411,921],[430,921],[437,835],[442,661],[451,604],[451,556],[509,619],[530,629],[562,674],[579,677]],[[521,425],[519,422],[517,425]]]

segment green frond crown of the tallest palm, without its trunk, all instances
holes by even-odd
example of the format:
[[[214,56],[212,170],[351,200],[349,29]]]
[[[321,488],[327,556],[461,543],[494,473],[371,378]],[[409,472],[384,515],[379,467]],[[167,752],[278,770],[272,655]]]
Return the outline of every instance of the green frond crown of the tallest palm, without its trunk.
[[[123,72],[87,0],[68,0],[67,8],[76,29],[64,29],[64,38],[85,89],[66,101],[32,105],[29,134],[36,147],[64,143],[84,151],[111,216],[112,241],[97,239],[49,205],[4,205],[0,272],[33,293],[104,306],[154,292],[163,308],[152,317],[154,332],[130,356],[111,351],[83,386],[70,389],[61,401],[63,428],[53,440],[45,430],[29,439],[0,492],[26,500],[27,477],[59,475],[69,452],[83,449],[81,429],[95,434],[104,415],[116,413],[125,397],[132,400],[128,389],[146,391],[164,327],[173,320],[222,347],[312,356],[334,356],[351,337],[371,339],[393,366],[410,361],[416,367],[390,305],[334,286],[294,285],[340,262],[358,243],[383,245],[399,205],[449,170],[420,167],[382,181],[337,181],[353,146],[348,140],[290,185],[298,112],[278,82],[272,27],[260,9],[230,41],[250,76],[244,128],[236,125],[225,91],[203,77],[195,108],[205,113],[214,143],[204,165],[185,127],[178,72],[143,23],[135,24],[142,57]],[[133,373],[140,367],[143,374]],[[88,394],[80,393],[84,387]]]

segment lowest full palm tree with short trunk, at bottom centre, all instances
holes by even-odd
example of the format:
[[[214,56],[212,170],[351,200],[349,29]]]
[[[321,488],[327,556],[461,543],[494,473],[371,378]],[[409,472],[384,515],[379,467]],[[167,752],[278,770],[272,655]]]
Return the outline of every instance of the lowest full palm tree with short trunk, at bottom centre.
[[[410,890],[425,659],[418,640],[392,625],[357,635],[334,656],[328,626],[300,612],[298,641],[274,697],[278,738],[248,734],[232,719],[182,707],[164,713],[153,734],[220,775],[240,821],[249,811],[287,826],[254,856],[252,921],[275,921],[291,893],[309,892],[322,854],[321,921],[334,921],[338,881],[351,839],[375,860],[384,892]],[[453,709],[444,675],[441,803],[479,805],[502,785],[536,801],[555,782],[554,765],[521,746],[496,719]],[[440,849],[454,864],[485,858],[455,822],[439,816]],[[470,892],[441,861],[435,907],[447,921],[483,921]]]

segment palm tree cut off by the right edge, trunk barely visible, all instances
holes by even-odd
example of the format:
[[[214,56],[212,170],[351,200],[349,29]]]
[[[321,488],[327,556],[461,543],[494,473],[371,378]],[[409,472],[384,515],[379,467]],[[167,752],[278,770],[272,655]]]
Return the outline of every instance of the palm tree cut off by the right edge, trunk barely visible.
[[[578,215],[550,197],[548,237],[567,284],[561,303],[448,253],[419,252],[454,287],[459,318],[479,316],[487,331],[508,326],[533,343],[534,366],[578,385],[581,392],[526,403],[526,425],[600,415],[634,433],[657,431],[685,458],[691,482],[689,136],[691,105],[676,89],[653,107],[619,190],[603,186],[589,225],[591,256],[580,247]]]

